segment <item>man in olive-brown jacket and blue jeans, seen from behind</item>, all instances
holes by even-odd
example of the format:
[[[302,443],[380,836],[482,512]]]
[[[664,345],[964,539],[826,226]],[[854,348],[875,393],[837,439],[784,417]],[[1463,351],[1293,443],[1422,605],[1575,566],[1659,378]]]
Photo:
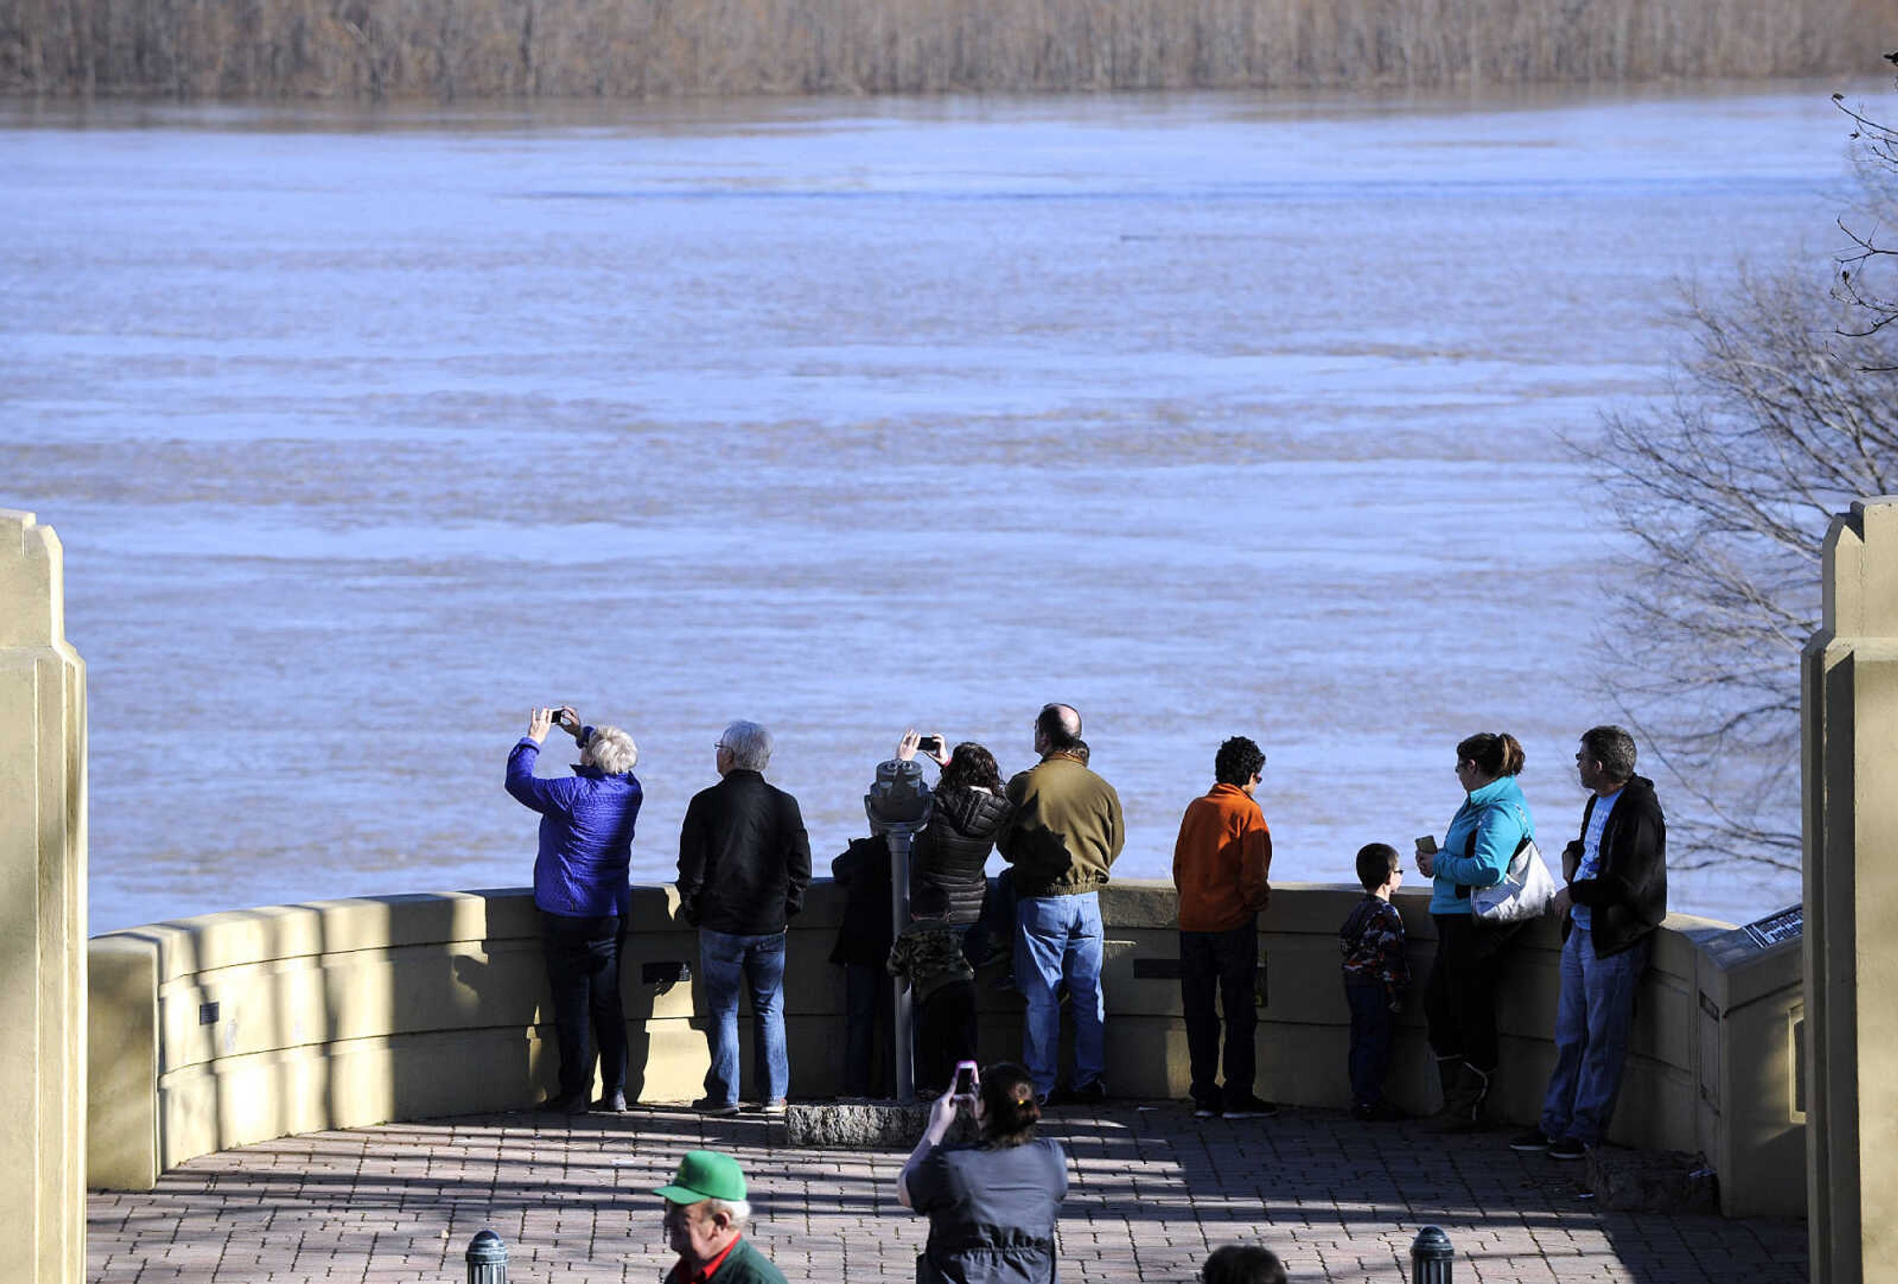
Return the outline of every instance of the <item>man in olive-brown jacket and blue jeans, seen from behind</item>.
[[[1048,705],[1034,720],[1040,765],[1008,783],[1015,811],[996,840],[1014,866],[1015,984],[1029,1001],[1021,1060],[1034,1090],[1051,1105],[1107,1098],[1101,1083],[1101,897],[1107,872],[1127,841],[1120,794],[1076,754],[1080,714]],[[1061,999],[1067,982],[1074,1012],[1074,1083],[1055,1088]]]

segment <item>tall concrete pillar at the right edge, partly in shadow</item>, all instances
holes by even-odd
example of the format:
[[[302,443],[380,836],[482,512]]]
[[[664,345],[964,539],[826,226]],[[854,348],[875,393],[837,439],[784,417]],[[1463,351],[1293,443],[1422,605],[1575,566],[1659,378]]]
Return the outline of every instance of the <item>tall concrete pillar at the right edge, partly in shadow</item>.
[[[1801,657],[1813,1278],[1898,1282],[1898,496],[1826,536]]]

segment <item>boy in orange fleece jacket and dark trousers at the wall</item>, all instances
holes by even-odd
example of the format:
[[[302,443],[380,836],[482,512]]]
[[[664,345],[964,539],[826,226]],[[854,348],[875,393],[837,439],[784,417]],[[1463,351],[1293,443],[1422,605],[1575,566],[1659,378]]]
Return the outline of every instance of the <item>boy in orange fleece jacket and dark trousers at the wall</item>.
[[[1181,1005],[1192,1064],[1194,1119],[1266,1119],[1279,1113],[1253,1094],[1258,1029],[1258,912],[1272,887],[1272,830],[1253,802],[1266,754],[1243,735],[1219,746],[1217,784],[1194,798],[1173,845],[1181,895]],[[1219,991],[1226,1014],[1226,1083],[1219,1077]]]

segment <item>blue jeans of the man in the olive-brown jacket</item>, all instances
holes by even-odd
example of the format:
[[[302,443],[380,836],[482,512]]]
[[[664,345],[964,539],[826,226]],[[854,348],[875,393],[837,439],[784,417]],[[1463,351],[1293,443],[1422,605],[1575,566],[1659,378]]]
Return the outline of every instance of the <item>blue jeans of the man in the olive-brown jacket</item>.
[[[1021,1033],[1021,1060],[1029,1064],[1034,1090],[1055,1088],[1061,1054],[1061,999],[1055,986],[1067,980],[1074,1012],[1074,1086],[1101,1077],[1107,1050],[1101,1018],[1101,895],[1023,897],[1015,902],[1015,984],[1029,1001]]]

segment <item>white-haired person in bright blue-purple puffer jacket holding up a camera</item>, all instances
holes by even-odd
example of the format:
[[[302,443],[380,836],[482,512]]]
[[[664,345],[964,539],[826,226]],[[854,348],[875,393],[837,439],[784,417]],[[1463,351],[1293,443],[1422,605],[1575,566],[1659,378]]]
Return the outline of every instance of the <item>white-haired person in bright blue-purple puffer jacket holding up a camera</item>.
[[[573,775],[533,775],[541,741],[558,724],[579,743]],[[560,1090],[543,1111],[585,1115],[600,1056],[594,1109],[626,1109],[626,1012],[619,1001],[619,950],[626,940],[632,889],[632,824],[640,817],[640,748],[619,727],[588,727],[571,705],[535,708],[528,733],[507,756],[507,792],[541,813],[533,859],[533,904],[541,910],[541,952],[554,991]],[[588,1048],[588,1024],[594,1048]]]

